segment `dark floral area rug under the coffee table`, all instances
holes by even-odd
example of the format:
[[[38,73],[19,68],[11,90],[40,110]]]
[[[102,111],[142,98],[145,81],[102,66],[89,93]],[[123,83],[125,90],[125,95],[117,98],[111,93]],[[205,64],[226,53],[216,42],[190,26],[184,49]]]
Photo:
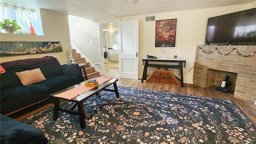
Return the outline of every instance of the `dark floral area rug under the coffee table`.
[[[256,126],[230,100],[124,86],[118,91],[120,98],[101,91],[84,101],[84,129],[72,114],[60,112],[54,121],[53,106],[21,122],[40,128],[49,144],[256,144]]]

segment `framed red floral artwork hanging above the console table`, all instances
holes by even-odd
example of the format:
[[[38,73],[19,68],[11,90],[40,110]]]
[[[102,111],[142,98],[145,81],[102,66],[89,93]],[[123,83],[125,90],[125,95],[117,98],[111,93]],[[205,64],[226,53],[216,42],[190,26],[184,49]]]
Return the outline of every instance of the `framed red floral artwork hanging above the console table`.
[[[155,47],[174,47],[177,19],[156,20]]]

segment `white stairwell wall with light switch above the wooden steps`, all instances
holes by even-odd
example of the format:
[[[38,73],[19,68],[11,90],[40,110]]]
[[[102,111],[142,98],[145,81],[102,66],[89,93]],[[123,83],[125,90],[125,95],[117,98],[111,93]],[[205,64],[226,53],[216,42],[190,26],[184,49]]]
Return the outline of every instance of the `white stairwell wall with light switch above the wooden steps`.
[[[68,16],[71,44],[75,46],[92,64],[100,63],[100,42],[98,22]],[[90,41],[94,45],[90,45]]]

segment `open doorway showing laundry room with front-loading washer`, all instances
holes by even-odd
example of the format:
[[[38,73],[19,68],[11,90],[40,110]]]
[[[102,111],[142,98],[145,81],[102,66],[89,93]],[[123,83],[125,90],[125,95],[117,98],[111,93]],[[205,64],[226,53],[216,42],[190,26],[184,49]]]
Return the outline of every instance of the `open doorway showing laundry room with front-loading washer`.
[[[109,76],[119,76],[117,22],[102,24],[102,42],[104,74]]]

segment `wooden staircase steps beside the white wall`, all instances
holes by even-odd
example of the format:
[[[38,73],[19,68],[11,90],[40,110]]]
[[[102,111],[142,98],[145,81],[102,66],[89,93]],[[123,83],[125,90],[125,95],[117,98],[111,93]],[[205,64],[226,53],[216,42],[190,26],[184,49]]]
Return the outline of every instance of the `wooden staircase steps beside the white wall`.
[[[94,71],[94,67],[90,66],[90,62],[85,62],[85,58],[80,58],[80,54],[76,53],[76,49],[72,49],[72,58],[76,60],[76,64],[88,64],[87,66],[85,66],[88,79],[100,76],[100,72]],[[82,74],[84,75],[83,69]]]

